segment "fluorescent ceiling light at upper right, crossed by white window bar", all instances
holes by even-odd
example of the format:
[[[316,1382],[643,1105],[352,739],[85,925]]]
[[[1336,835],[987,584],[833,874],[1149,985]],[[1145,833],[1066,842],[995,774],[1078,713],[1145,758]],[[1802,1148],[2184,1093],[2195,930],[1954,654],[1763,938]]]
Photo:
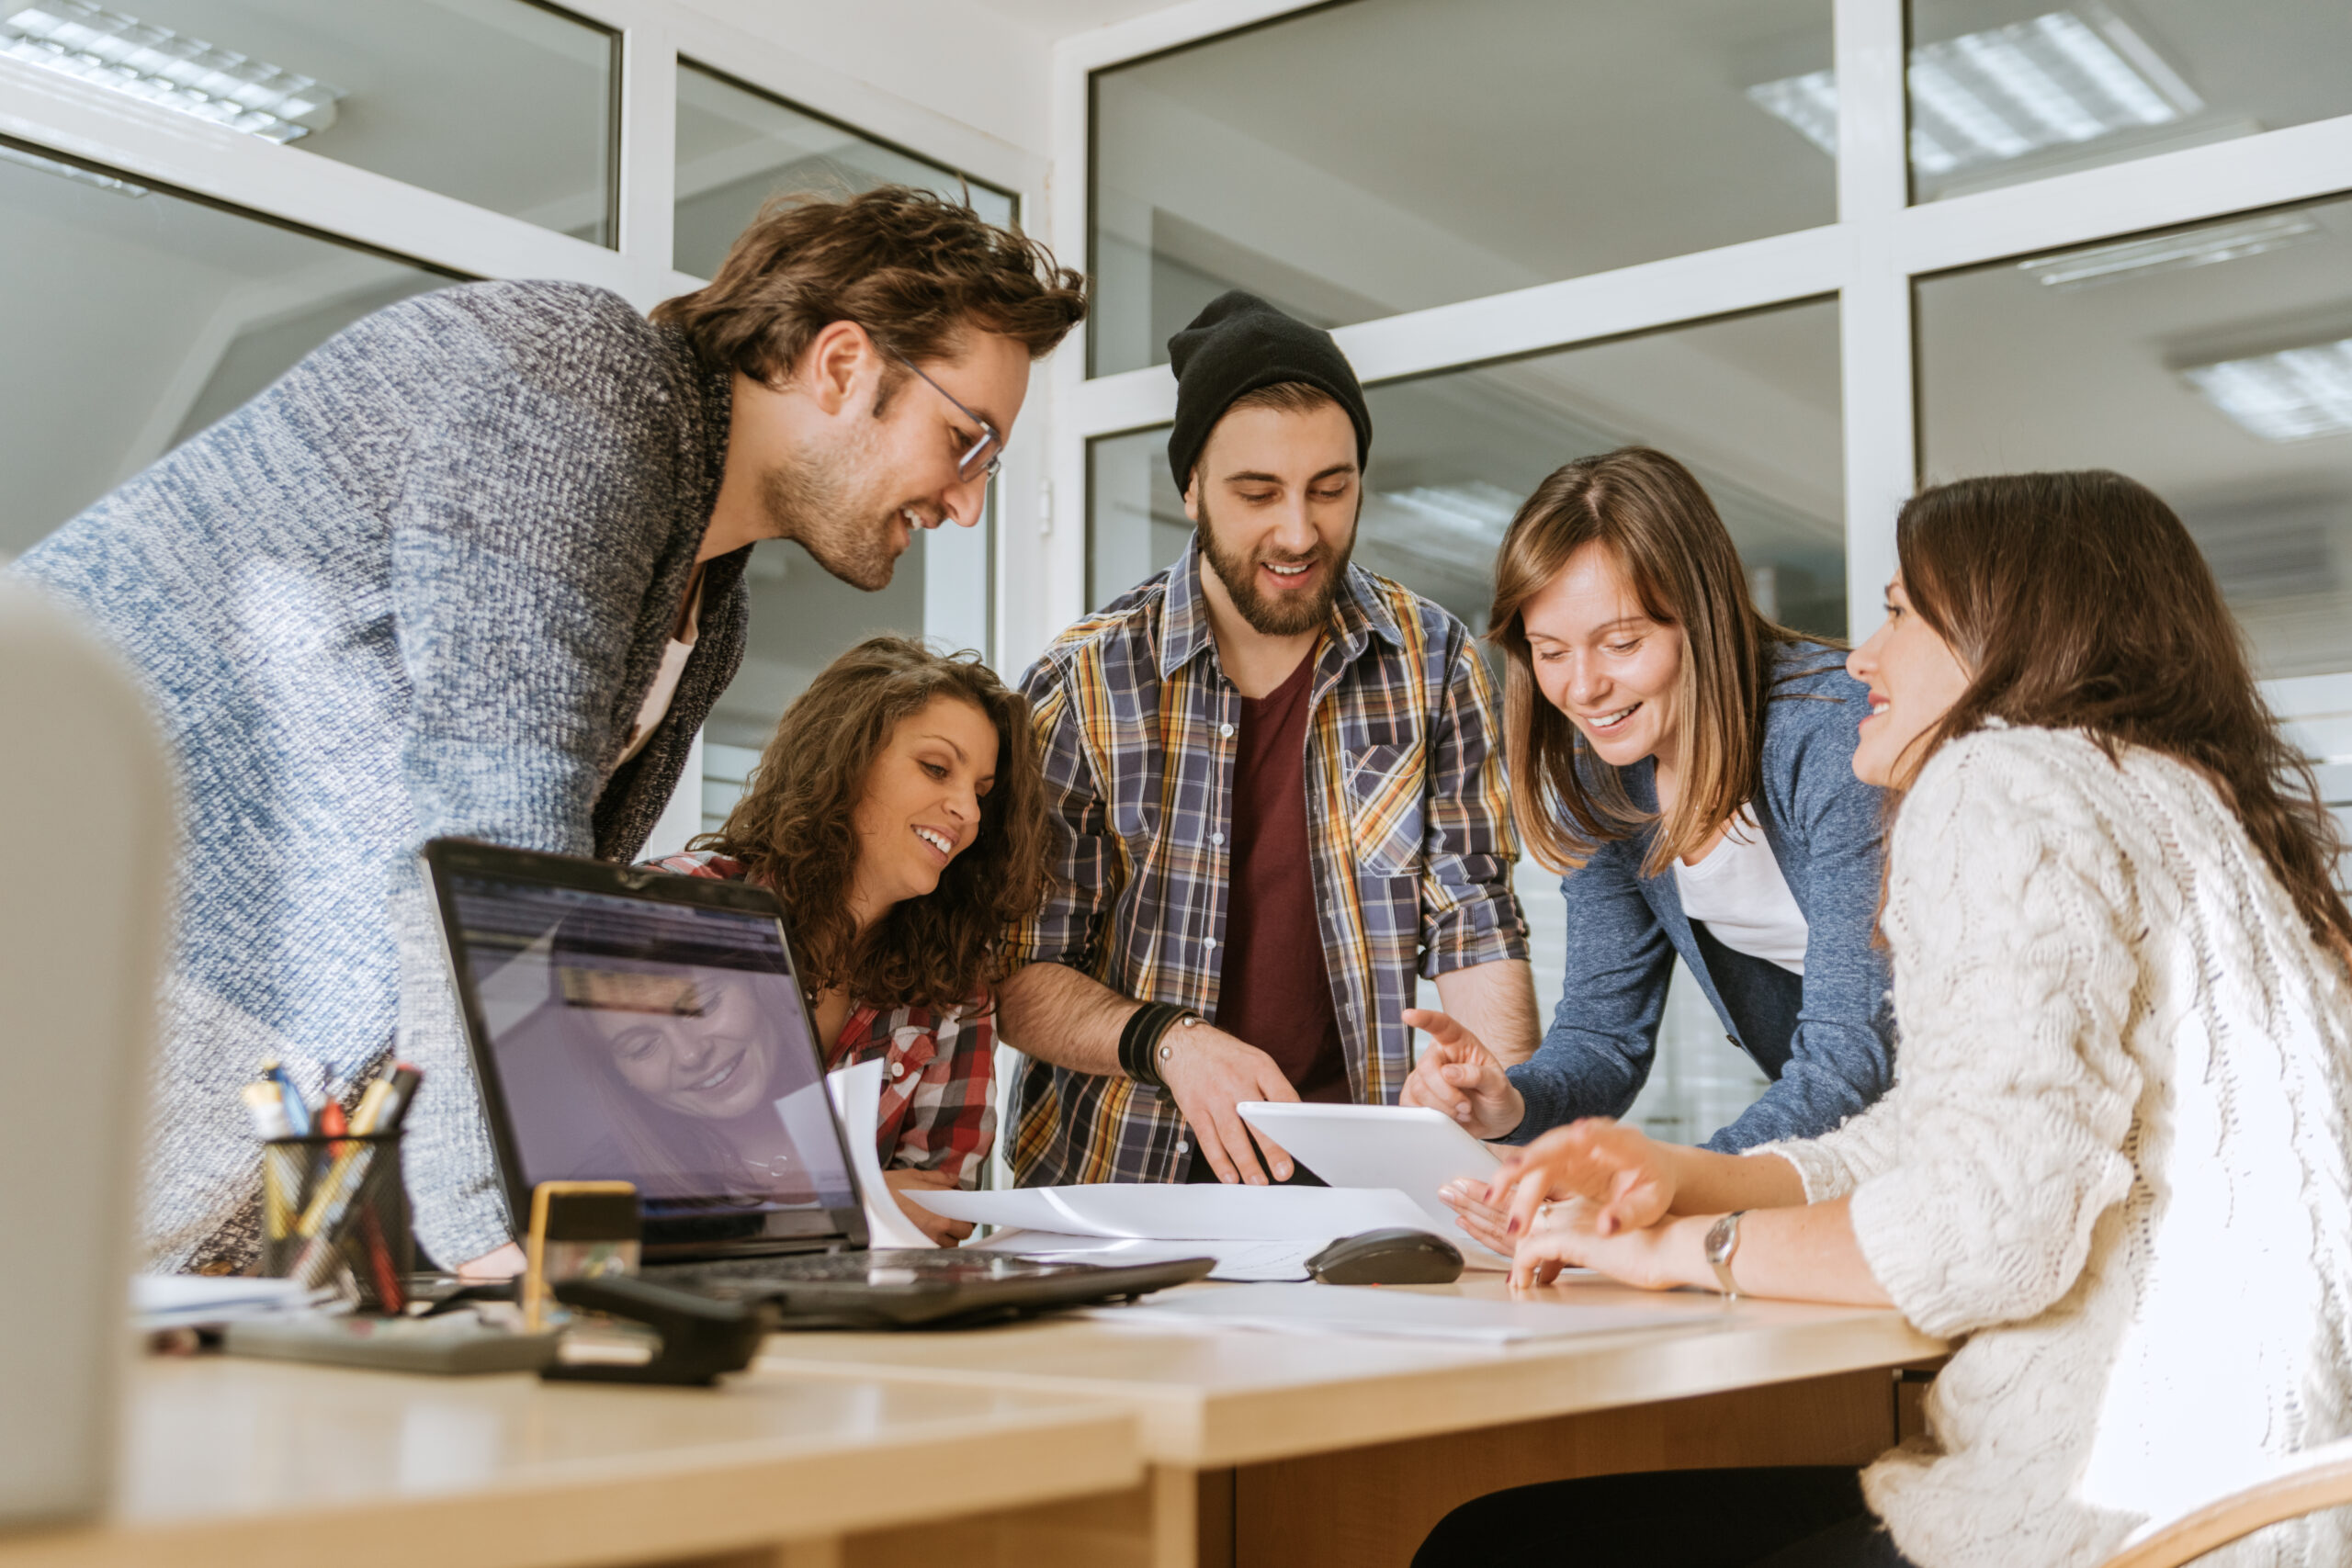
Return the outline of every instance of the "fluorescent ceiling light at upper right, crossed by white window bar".
[[[1837,73],[1759,82],[1748,101],[1837,155]],[[2114,12],[2096,0],[1962,33],[1910,54],[1912,167],[2009,162],[2044,148],[2171,125],[2204,108]]]

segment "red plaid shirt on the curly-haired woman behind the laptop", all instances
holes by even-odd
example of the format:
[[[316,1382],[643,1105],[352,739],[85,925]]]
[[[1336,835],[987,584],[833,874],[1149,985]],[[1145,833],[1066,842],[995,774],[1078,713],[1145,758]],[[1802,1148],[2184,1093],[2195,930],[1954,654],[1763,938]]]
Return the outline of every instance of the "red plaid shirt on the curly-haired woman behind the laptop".
[[[666,872],[741,882],[743,863],[699,849],[652,860]],[[875,1154],[884,1171],[946,1171],[976,1187],[997,1140],[995,1006],[974,997],[934,1013],[924,1006],[880,1009],[851,999],[842,1032],[826,1051],[826,1072],[882,1058],[882,1119]]]

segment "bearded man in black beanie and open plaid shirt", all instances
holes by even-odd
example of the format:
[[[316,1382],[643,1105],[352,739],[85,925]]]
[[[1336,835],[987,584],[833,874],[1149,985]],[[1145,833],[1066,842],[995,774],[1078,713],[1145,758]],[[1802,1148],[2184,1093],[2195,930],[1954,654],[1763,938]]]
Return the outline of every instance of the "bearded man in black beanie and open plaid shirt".
[[[1235,1107],[1392,1105],[1416,973],[1508,1060],[1536,1046],[1486,670],[1348,564],[1355,369],[1242,292],[1169,353],[1192,543],[1023,682],[1054,844],[1000,990],[1023,1185],[1303,1175]]]

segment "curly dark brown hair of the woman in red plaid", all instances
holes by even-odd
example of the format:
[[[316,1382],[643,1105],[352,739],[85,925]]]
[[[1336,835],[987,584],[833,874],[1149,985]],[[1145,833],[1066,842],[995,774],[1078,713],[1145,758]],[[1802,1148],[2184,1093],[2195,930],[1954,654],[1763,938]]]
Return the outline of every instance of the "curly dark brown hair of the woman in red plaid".
[[[898,722],[931,698],[971,703],[997,731],[997,783],[981,830],[924,898],[894,905],[863,936],[849,919],[866,776]],[[969,649],[934,654],[868,637],[783,710],[727,825],[694,839],[743,863],[776,893],[811,990],[847,987],[875,1006],[950,1009],[1004,978],[997,936],[1044,900],[1044,778],[1028,701]]]

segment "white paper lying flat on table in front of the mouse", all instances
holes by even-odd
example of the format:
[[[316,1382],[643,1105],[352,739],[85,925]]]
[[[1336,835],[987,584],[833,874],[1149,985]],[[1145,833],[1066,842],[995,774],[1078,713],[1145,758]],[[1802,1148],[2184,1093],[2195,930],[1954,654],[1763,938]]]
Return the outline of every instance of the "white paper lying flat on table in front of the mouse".
[[[1578,1307],[1573,1302],[1489,1302],[1362,1286],[1235,1286],[1160,1295],[1136,1307],[1098,1309],[1122,1324],[1270,1328],[1277,1333],[1362,1333],[1461,1345],[1519,1345],[1576,1333],[1628,1328],[1710,1328],[1712,1319],[1651,1307]]]

